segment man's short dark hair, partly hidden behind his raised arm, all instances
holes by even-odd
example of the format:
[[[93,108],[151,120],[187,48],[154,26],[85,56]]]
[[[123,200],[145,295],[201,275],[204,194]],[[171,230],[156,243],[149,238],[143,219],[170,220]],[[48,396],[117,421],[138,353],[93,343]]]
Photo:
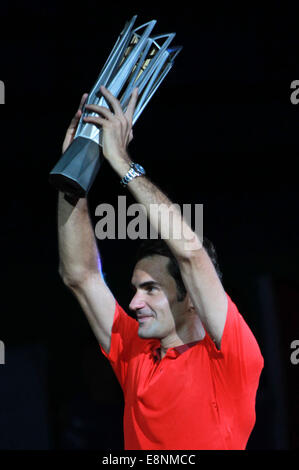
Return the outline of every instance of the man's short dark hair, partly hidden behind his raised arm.
[[[218,277],[221,280],[222,272],[220,271],[220,268],[219,268],[218,257],[217,257],[217,253],[216,253],[213,243],[208,238],[203,237],[203,246],[206,249],[212,263],[214,264]],[[168,269],[169,274],[174,278],[176,282],[177,293],[178,293],[177,300],[178,301],[184,300],[187,294],[187,290],[186,290],[186,287],[184,285],[184,282],[181,276],[179,264],[177,262],[177,259],[173,255],[172,251],[170,250],[170,248],[168,248],[168,245],[166,244],[165,240],[163,240],[162,238],[143,240],[140,243],[137,249],[137,253],[135,255],[135,265],[141,259],[146,258],[148,256],[153,256],[153,255],[162,255],[162,256],[167,256],[167,258],[169,258],[167,269]]]

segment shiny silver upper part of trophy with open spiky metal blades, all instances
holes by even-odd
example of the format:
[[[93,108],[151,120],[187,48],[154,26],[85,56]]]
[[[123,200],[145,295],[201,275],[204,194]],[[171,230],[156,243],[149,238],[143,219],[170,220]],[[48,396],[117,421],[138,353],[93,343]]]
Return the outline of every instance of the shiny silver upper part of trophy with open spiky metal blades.
[[[138,87],[138,101],[133,124],[164,80],[175,57],[182,49],[182,46],[169,48],[175,33],[150,37],[156,20],[133,29],[136,18],[137,15],[126,23],[86,101],[86,104],[109,108],[100,92],[100,86],[104,85],[118,98],[125,111],[133,89]],[[96,116],[96,113],[83,109],[75,138],[84,137],[101,145],[101,130],[83,121],[83,117],[87,115]]]

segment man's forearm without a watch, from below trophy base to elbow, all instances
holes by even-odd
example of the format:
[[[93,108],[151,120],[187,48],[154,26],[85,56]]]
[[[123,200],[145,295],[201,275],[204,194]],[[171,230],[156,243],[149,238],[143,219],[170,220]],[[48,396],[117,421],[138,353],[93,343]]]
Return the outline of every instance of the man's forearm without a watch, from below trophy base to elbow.
[[[100,272],[100,259],[85,198],[72,205],[58,194],[59,272],[66,283]]]

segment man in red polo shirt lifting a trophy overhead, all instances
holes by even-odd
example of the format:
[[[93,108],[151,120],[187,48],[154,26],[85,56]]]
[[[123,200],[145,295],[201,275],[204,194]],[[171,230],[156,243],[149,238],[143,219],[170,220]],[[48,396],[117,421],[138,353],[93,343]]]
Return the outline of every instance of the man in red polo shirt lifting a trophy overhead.
[[[132,163],[127,146],[138,92],[123,113],[119,101],[101,91],[111,108],[89,105],[96,115],[85,121],[102,127],[103,154],[123,180]],[[171,202],[141,173],[123,181],[165,242],[142,248],[137,258],[130,303],[136,320],[103,279],[86,199],[72,205],[59,194],[58,207],[59,271],[123,389],[125,449],[244,449],[255,423],[259,347],[208,251],[178,210],[169,230]],[[151,204],[162,208],[161,224]],[[171,235],[178,228],[180,239]]]

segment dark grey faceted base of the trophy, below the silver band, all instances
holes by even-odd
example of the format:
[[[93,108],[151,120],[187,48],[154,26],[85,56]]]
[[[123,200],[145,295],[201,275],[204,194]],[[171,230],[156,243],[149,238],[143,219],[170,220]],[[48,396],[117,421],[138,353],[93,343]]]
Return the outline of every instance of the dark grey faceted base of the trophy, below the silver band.
[[[93,140],[77,137],[49,175],[49,182],[59,191],[85,197],[100,169],[100,147]]]

